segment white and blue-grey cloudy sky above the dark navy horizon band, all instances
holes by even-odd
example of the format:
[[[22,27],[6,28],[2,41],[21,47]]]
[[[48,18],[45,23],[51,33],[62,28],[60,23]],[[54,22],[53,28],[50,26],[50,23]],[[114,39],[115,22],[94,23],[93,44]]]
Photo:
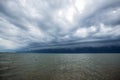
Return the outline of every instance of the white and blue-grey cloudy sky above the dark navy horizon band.
[[[119,40],[120,0],[0,0],[0,51]]]

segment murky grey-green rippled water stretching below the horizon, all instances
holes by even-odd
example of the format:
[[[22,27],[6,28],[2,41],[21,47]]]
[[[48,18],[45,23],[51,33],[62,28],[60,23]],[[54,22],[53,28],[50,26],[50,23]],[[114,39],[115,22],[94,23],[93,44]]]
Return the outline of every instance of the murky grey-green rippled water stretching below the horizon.
[[[120,80],[120,54],[0,54],[0,80]]]

